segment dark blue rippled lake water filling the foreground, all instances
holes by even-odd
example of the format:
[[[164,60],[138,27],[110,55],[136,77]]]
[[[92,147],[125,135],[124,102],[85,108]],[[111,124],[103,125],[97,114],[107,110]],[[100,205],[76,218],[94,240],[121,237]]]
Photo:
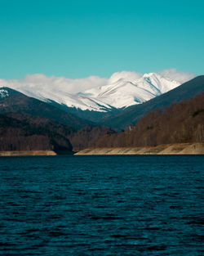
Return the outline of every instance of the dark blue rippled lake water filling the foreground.
[[[2,255],[203,255],[204,156],[0,158]]]

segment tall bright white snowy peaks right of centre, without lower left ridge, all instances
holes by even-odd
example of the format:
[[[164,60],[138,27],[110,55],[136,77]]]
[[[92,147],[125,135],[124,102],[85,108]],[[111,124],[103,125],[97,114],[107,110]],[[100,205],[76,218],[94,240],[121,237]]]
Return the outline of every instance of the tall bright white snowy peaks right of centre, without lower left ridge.
[[[130,80],[125,75],[118,76],[118,80],[111,77],[109,84],[88,90],[86,93],[110,106],[122,108],[149,101],[179,85],[180,83],[162,78],[156,73],[144,74],[139,79],[134,79],[131,76]]]

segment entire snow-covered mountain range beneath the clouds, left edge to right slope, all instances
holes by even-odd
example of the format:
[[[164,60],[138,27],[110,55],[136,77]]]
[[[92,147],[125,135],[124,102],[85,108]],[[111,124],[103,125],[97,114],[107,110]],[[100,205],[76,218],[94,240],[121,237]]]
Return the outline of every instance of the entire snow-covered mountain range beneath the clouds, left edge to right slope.
[[[178,80],[175,81],[157,73],[139,74],[128,71],[114,73],[109,79],[104,80],[104,85],[77,93],[69,92],[69,86],[64,85],[32,84],[29,81],[20,83],[20,80],[16,83],[15,81],[11,80],[4,85],[4,81],[1,80],[0,86],[16,89],[41,101],[55,101],[68,107],[99,112],[107,112],[113,108],[126,108],[149,101],[181,84]],[[0,97],[4,96],[5,92],[2,91]]]

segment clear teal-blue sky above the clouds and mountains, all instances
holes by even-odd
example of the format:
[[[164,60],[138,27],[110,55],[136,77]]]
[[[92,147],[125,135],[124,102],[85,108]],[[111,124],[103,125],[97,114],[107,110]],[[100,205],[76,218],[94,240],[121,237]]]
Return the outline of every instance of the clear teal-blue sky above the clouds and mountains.
[[[204,74],[203,1],[0,0],[0,79]]]

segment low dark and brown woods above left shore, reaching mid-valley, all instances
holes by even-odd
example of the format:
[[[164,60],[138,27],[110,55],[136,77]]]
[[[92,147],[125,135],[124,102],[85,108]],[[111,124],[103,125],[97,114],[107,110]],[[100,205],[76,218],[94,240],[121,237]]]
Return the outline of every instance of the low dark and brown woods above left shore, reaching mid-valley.
[[[60,124],[53,119],[20,113],[0,115],[0,151],[54,150],[56,152],[82,150],[109,128],[86,126],[80,130]]]

